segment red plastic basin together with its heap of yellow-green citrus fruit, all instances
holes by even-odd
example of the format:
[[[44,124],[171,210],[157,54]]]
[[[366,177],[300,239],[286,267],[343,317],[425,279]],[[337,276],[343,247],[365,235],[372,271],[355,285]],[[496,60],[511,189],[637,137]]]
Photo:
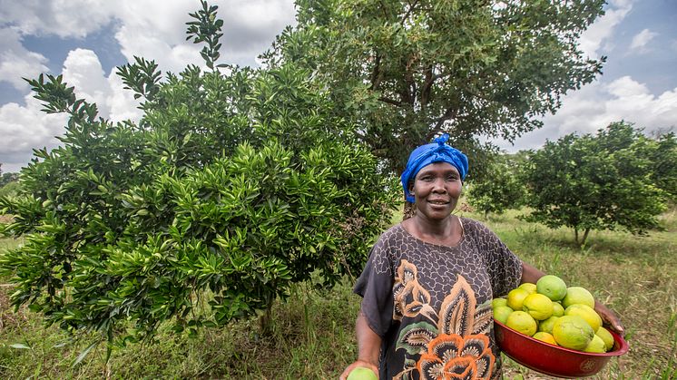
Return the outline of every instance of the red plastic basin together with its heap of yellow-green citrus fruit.
[[[525,283],[492,301],[496,343],[515,362],[545,375],[594,375],[628,351],[622,336],[603,326],[594,296],[553,275]]]

